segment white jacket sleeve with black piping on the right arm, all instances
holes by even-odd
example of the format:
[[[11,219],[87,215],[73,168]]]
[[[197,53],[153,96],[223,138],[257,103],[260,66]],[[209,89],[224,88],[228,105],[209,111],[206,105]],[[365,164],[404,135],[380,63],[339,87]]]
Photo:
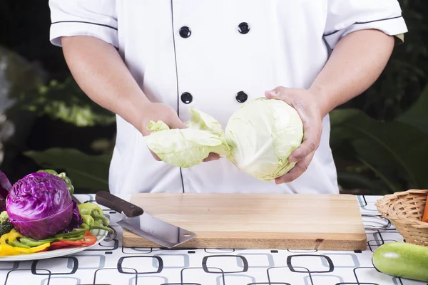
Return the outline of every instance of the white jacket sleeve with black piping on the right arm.
[[[324,38],[334,48],[348,33],[374,28],[396,43],[404,41],[407,26],[397,0],[328,0]]]

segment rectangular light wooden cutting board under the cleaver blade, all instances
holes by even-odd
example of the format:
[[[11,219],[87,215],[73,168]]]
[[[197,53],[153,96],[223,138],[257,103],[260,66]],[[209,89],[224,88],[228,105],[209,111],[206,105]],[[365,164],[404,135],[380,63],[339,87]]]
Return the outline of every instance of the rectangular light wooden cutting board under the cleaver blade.
[[[133,204],[195,232],[178,248],[365,250],[352,195],[139,193]],[[123,230],[124,247],[159,247]]]

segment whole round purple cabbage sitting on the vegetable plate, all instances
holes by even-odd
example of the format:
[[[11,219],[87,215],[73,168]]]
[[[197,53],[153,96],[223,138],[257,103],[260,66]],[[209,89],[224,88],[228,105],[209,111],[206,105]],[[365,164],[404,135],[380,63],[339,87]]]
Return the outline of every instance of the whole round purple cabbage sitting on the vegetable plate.
[[[46,239],[71,223],[72,201],[61,177],[46,172],[31,173],[11,187],[6,212],[20,234]]]

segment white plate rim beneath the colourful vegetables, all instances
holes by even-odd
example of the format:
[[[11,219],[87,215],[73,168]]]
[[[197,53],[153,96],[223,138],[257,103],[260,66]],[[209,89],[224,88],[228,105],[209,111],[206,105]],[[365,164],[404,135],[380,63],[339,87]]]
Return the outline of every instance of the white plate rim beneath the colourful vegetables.
[[[98,243],[102,242],[103,239],[107,236],[107,231],[103,229],[93,230],[93,235],[96,236],[96,243],[87,247],[66,247],[63,249],[49,250],[47,252],[36,252],[34,254],[19,254],[19,255],[9,255],[6,257],[0,257],[0,261],[29,261],[36,259],[50,259],[54,257],[63,257],[69,254],[76,254],[77,252],[83,252],[83,250],[90,249],[95,247]]]

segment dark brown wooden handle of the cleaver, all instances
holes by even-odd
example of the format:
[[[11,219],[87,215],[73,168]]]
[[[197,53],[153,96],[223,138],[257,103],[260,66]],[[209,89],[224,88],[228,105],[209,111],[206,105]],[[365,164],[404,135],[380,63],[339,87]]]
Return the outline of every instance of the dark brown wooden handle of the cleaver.
[[[125,201],[124,199],[121,199],[107,191],[98,191],[96,193],[95,200],[98,204],[113,209],[116,212],[125,213],[126,217],[136,217],[144,212],[141,207]]]

